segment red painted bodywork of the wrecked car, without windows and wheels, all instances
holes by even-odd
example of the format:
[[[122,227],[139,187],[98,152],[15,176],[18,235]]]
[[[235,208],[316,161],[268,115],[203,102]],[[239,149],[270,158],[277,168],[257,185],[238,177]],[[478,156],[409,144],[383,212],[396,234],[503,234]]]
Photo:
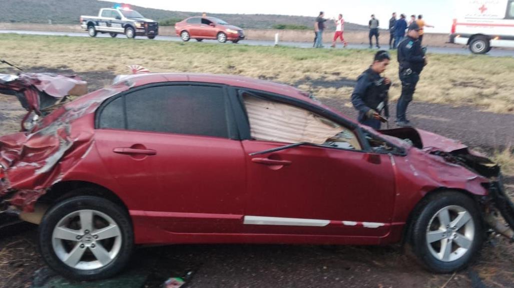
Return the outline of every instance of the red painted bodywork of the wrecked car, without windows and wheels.
[[[178,82],[280,95],[405,149],[405,155],[300,146],[250,156],[284,143],[95,129],[95,111],[112,96]],[[418,148],[399,138],[409,133]],[[123,149],[148,155],[126,155]],[[94,183],[121,199],[136,243],[383,244],[400,240],[415,205],[431,191],[487,194],[482,184],[489,179],[431,154],[462,149],[467,148],[426,131],[381,133],[359,126],[287,85],[228,75],[141,74],[70,102],[27,133],[0,137],[0,199],[31,212],[56,183]],[[290,165],[267,166],[257,157]],[[304,223],[255,224],[260,217]]]

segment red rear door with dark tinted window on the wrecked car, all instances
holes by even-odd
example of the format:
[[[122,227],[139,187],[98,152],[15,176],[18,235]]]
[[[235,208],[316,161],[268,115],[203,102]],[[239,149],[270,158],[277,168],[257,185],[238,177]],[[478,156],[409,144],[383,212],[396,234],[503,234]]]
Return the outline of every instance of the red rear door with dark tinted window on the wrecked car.
[[[96,148],[131,208],[176,233],[241,230],[245,159],[222,86],[165,85],[109,100]]]

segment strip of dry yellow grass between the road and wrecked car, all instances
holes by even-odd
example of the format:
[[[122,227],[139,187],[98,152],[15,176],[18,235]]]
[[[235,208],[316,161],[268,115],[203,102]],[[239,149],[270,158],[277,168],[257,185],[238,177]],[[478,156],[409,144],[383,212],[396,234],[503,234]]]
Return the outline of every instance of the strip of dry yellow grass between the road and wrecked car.
[[[373,55],[368,50],[314,50],[290,47],[250,47],[207,43],[175,43],[124,38],[66,36],[0,36],[0,56],[23,67],[70,68],[77,72],[113,71],[139,64],[153,72],[208,72],[268,78],[299,86],[319,97],[350,98],[352,88],[337,84],[356,79]],[[393,52],[393,58],[396,57]],[[386,76],[393,80],[391,97],[399,97],[398,64]],[[334,87],[305,84],[306,77]],[[429,55],[415,99],[449,105],[473,105],[482,110],[514,113],[514,58],[475,55]]]

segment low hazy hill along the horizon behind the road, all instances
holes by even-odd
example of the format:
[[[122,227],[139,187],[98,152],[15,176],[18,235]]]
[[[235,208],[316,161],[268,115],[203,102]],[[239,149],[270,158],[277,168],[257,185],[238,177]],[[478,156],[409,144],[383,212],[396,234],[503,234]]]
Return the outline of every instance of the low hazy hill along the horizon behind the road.
[[[100,8],[113,7],[113,2],[96,0],[0,0],[0,22],[79,24],[80,15],[97,15]],[[204,11],[181,12],[131,6],[143,16],[164,25],[201,15]],[[264,14],[211,14],[241,28],[306,28],[312,29],[315,17]],[[327,22],[329,23],[329,22]],[[333,23],[328,24],[329,28]],[[367,30],[368,27],[345,23],[345,30]]]

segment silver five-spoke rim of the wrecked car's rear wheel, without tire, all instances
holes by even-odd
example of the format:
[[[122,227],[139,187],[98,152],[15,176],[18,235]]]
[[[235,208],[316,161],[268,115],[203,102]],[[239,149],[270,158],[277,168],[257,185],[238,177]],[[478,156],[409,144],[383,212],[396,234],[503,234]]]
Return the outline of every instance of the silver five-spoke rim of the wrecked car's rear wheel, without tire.
[[[96,210],[79,210],[66,215],[52,233],[52,248],[57,257],[78,270],[108,265],[118,256],[121,242],[118,224]]]

